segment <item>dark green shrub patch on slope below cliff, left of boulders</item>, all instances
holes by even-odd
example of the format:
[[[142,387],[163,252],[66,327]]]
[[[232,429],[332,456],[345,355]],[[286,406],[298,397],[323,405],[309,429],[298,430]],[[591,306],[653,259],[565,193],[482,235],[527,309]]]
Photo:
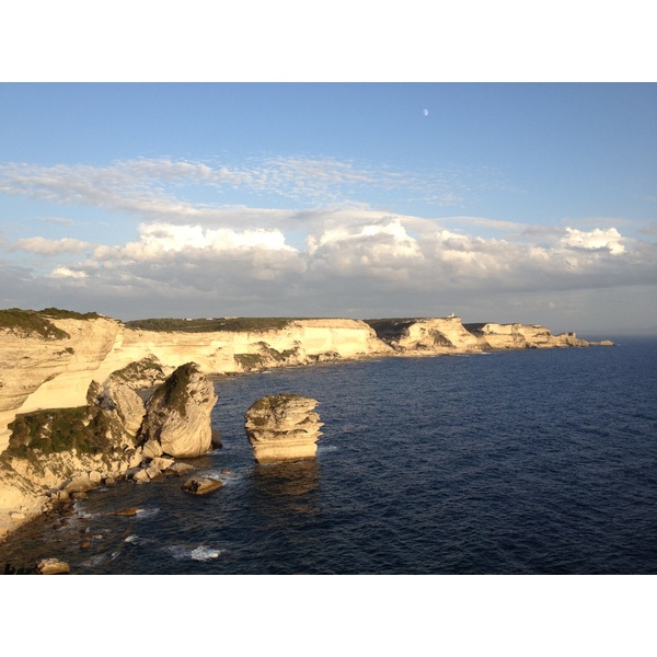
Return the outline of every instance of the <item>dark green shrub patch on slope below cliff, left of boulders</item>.
[[[50,408],[16,415],[9,425],[12,434],[7,457],[30,458],[38,450],[44,454],[77,449],[81,453],[106,453],[113,438],[122,431],[116,422],[101,408],[77,406]]]

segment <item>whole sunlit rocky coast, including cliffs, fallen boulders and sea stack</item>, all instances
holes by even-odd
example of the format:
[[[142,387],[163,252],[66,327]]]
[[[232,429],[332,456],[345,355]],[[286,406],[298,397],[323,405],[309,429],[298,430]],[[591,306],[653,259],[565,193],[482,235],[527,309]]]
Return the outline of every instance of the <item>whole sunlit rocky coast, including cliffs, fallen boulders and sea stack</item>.
[[[180,474],[187,464],[176,459],[220,445],[209,419],[211,378],[345,359],[613,344],[555,336],[540,325],[464,325],[456,316],[290,320],[252,333],[186,334],[61,312],[30,315],[46,326],[41,333],[0,324],[0,541],[42,514],[68,512],[93,487]],[[257,461],[314,456],[316,402],[300,400],[286,400],[289,414],[276,422],[258,415],[262,400],[250,410]],[[296,442],[281,448],[286,433]]]

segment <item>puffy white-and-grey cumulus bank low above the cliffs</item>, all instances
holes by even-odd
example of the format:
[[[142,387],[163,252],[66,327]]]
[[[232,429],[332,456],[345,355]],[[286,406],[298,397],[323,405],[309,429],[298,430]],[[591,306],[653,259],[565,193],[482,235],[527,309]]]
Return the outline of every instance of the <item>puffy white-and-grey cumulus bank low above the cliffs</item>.
[[[278,229],[142,223],[137,241],[97,246],[92,258],[72,270],[113,279],[115,285],[159,281],[181,289],[215,289],[218,296],[230,288],[252,298],[266,293],[254,281],[278,286],[272,288],[277,298],[345,298],[384,290],[496,293],[657,280],[657,246],[639,242],[626,247],[615,229],[565,229],[552,234],[549,244],[527,244],[435,224],[429,231],[413,217],[373,211],[347,216],[344,210],[324,211],[325,221],[310,220],[306,246],[299,249]]]

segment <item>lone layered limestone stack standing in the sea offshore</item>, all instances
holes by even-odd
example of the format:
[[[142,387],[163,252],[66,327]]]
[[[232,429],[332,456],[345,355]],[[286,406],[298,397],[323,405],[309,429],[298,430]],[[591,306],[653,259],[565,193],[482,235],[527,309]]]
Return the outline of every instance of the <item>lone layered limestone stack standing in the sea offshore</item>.
[[[279,393],[255,402],[244,418],[246,436],[258,463],[313,459],[321,436],[318,401],[299,394]]]

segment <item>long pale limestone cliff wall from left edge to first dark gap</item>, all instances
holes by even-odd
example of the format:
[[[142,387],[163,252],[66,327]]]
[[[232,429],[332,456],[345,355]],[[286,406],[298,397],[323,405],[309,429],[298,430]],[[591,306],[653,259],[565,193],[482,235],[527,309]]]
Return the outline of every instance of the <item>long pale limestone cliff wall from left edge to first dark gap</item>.
[[[153,332],[111,319],[53,319],[70,337],[21,336],[0,328],[0,452],[18,413],[87,403],[92,381],[151,359],[169,374],[193,360],[204,373],[308,365],[391,355],[393,349],[357,320],[299,320],[265,332]]]

